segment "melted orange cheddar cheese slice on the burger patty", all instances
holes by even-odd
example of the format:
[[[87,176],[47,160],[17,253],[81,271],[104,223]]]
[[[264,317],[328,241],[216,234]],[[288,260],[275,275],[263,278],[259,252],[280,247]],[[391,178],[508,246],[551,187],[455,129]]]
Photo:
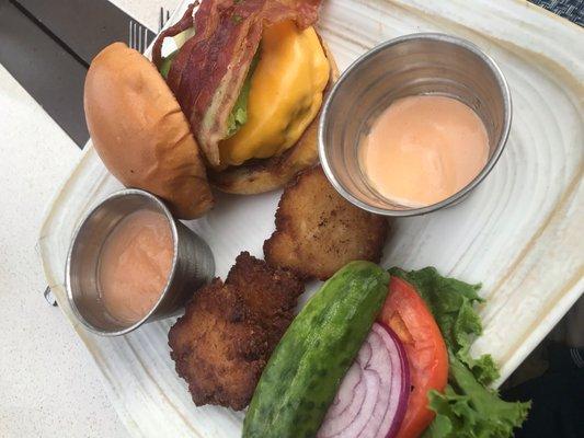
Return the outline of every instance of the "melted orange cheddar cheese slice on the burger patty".
[[[285,21],[264,31],[251,78],[248,122],[219,143],[221,165],[270,158],[290,148],[317,116],[329,61],[312,27]]]

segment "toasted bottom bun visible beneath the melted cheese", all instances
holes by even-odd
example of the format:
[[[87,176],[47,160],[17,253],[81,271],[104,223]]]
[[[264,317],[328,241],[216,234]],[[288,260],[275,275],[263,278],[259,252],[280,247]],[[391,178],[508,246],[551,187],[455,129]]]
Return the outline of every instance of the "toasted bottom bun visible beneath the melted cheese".
[[[320,35],[319,35],[320,37]],[[339,68],[327,44],[320,37],[324,55],[331,68],[329,84],[339,79]],[[209,170],[209,180],[214,186],[222,192],[240,195],[254,195],[283,187],[290,182],[298,172],[312,166],[319,160],[317,134],[320,112],[298,141],[284,153],[267,159],[251,160],[238,166],[230,166],[222,171]]]

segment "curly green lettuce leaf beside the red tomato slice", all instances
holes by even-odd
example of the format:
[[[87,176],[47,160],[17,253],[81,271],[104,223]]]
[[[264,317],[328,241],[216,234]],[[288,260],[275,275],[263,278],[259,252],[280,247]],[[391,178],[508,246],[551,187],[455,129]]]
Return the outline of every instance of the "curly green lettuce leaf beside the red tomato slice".
[[[474,304],[482,302],[480,285],[443,277],[433,267],[391,275],[412,284],[434,314],[448,347],[448,385],[444,393],[428,393],[436,418],[426,438],[507,438],[527,417],[530,403],[508,403],[486,388],[499,377],[491,355],[470,356],[472,341],[482,332]]]

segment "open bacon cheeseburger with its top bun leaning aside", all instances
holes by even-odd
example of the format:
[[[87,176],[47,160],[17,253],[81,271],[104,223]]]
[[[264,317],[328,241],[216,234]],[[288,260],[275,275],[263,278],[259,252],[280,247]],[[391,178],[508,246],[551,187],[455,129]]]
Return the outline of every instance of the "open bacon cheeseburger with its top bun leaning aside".
[[[337,76],[313,27],[319,3],[204,0],[159,35],[152,61],[123,43],[104,48],[84,110],[106,168],[192,219],[213,207],[210,185],[257,194],[313,165]]]

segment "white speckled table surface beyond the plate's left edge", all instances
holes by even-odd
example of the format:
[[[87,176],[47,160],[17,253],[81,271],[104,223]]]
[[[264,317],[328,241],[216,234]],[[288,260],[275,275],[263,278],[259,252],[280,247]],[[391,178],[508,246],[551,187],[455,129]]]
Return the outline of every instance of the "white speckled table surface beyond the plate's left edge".
[[[178,0],[116,0],[158,28]],[[55,191],[80,150],[0,66],[0,437],[127,437],[93,359],[46,287],[36,251]]]

